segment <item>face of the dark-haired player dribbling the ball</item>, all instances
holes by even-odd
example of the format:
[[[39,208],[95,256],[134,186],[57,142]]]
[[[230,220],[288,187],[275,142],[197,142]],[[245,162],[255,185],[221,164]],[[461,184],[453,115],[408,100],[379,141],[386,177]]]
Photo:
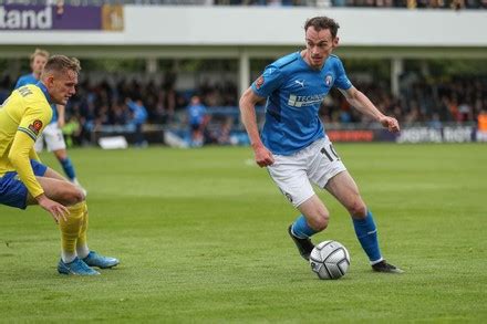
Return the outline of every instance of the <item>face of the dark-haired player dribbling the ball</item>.
[[[324,61],[339,44],[339,38],[332,38],[329,29],[317,31],[313,27],[305,32],[305,59],[312,67],[321,69]]]

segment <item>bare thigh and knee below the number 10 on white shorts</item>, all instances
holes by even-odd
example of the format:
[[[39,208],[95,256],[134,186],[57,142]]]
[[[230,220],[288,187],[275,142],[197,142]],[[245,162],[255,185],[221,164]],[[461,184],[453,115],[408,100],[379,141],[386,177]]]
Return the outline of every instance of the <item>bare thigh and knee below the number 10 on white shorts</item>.
[[[365,203],[359,192],[359,187],[349,171],[343,171],[331,178],[325,189],[342,203],[350,213],[362,215],[365,212]]]

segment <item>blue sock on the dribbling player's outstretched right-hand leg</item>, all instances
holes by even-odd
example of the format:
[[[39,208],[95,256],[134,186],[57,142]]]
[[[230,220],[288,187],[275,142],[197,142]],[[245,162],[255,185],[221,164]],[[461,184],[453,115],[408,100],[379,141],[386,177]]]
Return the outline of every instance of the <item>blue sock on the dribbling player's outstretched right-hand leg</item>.
[[[353,218],[353,227],[355,228],[356,238],[362,249],[369,255],[371,263],[382,260],[381,250],[379,249],[377,228],[374,223],[372,212],[367,210],[367,216],[363,219]]]

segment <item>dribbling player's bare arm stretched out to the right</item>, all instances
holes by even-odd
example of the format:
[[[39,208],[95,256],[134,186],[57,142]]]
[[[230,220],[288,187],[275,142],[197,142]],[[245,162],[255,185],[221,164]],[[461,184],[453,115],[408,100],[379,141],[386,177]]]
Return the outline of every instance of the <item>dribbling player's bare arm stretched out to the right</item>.
[[[354,86],[351,86],[348,90],[341,90],[340,92],[345,96],[346,101],[355,107],[359,112],[364,115],[367,115],[379,123],[382,126],[386,127],[390,132],[396,133],[400,132],[400,124],[397,119],[394,117],[390,117],[381,113],[381,111],[375,107],[375,105],[369,100],[366,95],[364,95],[361,91],[356,90]]]

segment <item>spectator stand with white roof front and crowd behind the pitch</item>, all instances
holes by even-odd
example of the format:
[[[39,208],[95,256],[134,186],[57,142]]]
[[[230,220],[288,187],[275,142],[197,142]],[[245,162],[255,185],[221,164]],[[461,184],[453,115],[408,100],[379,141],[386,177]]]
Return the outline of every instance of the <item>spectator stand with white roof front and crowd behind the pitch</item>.
[[[112,135],[133,142],[127,97],[141,98],[148,112],[147,142],[184,144],[193,94],[209,107],[207,144],[247,144],[239,94],[267,63],[303,46],[303,22],[315,14],[340,22],[335,53],[349,76],[404,129],[387,135],[334,92],[321,111],[333,140],[472,142],[487,107],[485,1],[65,1],[49,12],[41,1],[19,3],[27,6],[2,6],[0,100],[29,72],[37,46],[79,58],[83,73],[65,130],[73,145]],[[17,24],[8,21],[12,10]],[[167,140],[168,133],[182,142]]]

